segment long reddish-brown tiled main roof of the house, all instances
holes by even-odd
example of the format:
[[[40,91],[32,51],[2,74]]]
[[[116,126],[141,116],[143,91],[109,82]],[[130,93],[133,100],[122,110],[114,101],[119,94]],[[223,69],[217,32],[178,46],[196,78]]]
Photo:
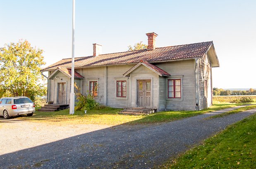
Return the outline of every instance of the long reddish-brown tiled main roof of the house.
[[[178,46],[167,46],[156,48],[155,50],[126,51],[120,53],[103,54],[99,56],[87,56],[75,58],[75,68],[101,65],[118,65],[139,63],[140,60],[149,63],[164,62],[170,60],[189,59],[203,57],[213,42],[201,42],[195,44],[184,44]],[[41,71],[54,70],[57,67],[71,68],[71,58],[62,59]]]

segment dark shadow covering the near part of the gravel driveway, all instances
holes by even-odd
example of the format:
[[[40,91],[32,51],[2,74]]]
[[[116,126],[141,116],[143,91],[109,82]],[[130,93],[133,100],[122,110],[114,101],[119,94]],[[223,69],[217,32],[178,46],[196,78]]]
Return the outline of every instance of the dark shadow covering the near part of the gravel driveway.
[[[117,125],[3,154],[0,164],[2,168],[152,168],[251,113],[232,114],[229,120],[203,120],[207,116],[203,114],[158,125]]]

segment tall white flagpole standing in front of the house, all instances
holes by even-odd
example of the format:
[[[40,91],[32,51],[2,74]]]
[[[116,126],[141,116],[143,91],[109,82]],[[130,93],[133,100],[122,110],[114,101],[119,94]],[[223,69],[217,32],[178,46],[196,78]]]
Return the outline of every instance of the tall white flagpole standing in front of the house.
[[[75,94],[74,94],[74,53],[75,53],[75,0],[73,0],[73,19],[72,19],[72,69],[71,69],[71,91],[69,102],[69,114],[74,114]]]

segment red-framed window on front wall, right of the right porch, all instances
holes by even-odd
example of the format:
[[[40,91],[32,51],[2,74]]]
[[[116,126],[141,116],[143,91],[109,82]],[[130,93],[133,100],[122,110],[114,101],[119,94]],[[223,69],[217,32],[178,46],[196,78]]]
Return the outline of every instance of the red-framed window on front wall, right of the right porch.
[[[181,98],[181,80],[168,80],[168,98]]]

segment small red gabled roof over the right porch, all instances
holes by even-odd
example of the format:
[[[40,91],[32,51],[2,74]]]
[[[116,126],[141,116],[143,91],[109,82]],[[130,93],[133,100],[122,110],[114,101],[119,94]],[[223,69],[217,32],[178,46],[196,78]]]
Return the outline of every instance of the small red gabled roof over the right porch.
[[[155,72],[156,74],[158,74],[159,76],[170,76],[169,73],[165,72],[163,69],[160,69],[159,67],[152,65],[144,60],[141,60],[140,63],[138,63],[137,65],[135,65],[134,67],[132,67],[131,69],[129,69],[127,72],[125,72],[123,75],[127,76],[128,74],[132,73],[137,67],[139,67],[140,65],[144,65],[145,67],[147,67],[148,69],[151,69],[153,72]]]

